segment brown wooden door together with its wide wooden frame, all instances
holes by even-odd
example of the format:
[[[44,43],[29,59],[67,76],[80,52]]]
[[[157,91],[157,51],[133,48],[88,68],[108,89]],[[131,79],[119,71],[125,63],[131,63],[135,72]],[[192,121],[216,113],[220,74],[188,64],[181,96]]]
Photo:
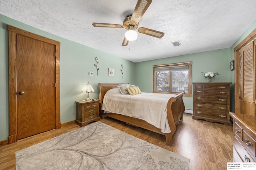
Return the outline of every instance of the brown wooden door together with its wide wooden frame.
[[[10,25],[8,33],[11,144],[61,128],[60,42]]]

